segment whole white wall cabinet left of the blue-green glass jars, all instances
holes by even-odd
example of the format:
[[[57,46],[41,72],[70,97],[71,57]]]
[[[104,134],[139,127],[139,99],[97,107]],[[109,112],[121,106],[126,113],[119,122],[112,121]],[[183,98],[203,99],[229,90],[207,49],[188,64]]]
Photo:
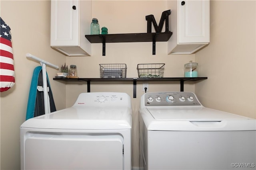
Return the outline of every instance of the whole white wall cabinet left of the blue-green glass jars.
[[[52,48],[67,56],[90,56],[91,0],[51,1]]]

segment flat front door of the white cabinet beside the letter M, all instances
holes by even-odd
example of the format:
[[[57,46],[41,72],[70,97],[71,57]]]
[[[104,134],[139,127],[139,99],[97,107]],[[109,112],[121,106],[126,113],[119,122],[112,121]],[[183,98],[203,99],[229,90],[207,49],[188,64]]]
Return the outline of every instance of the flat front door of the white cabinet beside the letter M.
[[[178,43],[210,42],[209,0],[178,1]]]

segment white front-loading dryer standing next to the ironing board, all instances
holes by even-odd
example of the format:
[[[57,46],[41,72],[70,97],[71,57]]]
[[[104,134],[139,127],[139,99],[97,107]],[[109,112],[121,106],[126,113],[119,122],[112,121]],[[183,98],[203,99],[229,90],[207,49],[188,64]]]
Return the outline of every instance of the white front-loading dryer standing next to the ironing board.
[[[21,125],[21,169],[131,170],[131,138],[128,94],[82,93],[74,106]]]

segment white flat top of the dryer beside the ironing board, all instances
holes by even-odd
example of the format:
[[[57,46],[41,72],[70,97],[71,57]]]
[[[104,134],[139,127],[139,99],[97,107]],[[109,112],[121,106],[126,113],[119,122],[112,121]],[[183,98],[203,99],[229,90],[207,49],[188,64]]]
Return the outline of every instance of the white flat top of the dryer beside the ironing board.
[[[25,121],[21,127],[39,129],[131,129],[128,107],[70,107]]]

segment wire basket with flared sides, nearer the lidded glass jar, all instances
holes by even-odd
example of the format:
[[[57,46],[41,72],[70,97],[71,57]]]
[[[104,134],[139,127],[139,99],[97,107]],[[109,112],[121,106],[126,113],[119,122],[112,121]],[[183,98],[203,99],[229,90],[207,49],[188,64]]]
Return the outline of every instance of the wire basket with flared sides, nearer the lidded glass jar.
[[[164,76],[164,63],[138,64],[139,78],[162,78]]]

